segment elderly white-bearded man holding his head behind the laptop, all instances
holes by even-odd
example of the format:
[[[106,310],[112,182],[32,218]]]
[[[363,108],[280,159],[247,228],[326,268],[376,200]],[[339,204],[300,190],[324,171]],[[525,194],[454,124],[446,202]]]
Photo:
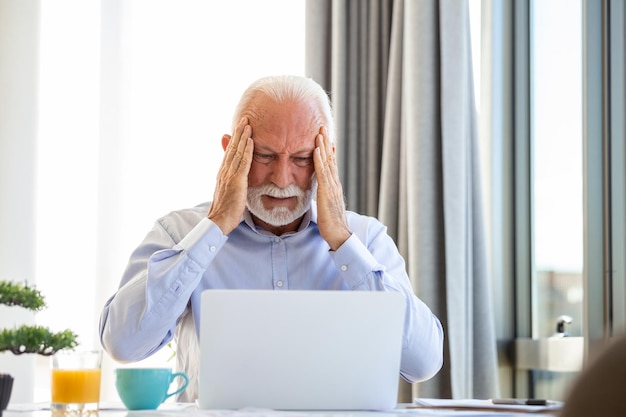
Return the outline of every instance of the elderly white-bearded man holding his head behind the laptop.
[[[202,291],[394,291],[407,300],[401,376],[432,377],[441,324],[385,226],[345,209],[325,91],[304,77],[262,78],[233,120],[213,201],[162,217],[132,253],[102,311],[106,351],[135,361],[176,337],[178,367],[192,377],[180,399],[195,400]]]

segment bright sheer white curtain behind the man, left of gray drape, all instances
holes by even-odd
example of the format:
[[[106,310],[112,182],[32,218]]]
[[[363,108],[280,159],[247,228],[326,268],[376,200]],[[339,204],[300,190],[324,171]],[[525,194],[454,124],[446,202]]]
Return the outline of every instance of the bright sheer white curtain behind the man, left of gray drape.
[[[40,39],[36,281],[49,308],[37,321],[99,347],[100,309],[153,221],[212,198],[239,94],[304,73],[304,4],[41,2]],[[47,401],[37,361],[34,400]],[[116,366],[105,359],[105,401]]]

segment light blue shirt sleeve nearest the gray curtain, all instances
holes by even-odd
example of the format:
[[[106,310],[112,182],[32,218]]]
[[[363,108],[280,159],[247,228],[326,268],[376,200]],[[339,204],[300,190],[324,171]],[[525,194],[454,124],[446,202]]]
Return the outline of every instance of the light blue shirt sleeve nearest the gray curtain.
[[[386,228],[370,221],[331,256],[353,290],[400,292],[406,299],[401,376],[409,382],[433,377],[443,365],[444,333],[439,319],[413,291],[404,259]]]

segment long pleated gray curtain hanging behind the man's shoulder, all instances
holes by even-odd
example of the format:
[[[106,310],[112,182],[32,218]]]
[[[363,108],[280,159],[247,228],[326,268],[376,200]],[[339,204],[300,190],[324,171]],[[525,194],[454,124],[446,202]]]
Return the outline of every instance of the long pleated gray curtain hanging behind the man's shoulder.
[[[467,1],[308,0],[306,18],[348,208],[388,226],[446,333],[443,369],[399,401],[496,397]]]

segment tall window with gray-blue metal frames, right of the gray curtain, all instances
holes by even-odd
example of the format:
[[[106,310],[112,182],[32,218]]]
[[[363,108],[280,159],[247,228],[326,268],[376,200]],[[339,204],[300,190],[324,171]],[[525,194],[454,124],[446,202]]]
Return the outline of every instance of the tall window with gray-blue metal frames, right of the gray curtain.
[[[562,399],[577,372],[528,371],[543,365],[520,365],[511,345],[551,337],[562,315],[586,360],[624,333],[626,8],[483,7],[501,393]]]

